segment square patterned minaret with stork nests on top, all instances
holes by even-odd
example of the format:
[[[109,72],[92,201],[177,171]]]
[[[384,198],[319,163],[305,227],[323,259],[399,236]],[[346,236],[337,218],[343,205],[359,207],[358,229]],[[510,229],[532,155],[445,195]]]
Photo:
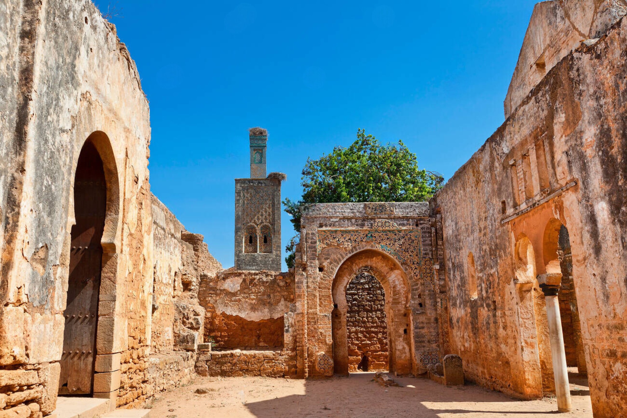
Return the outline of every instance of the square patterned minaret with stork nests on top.
[[[268,131],[251,128],[250,179],[235,179],[235,269],[281,271],[281,182],[266,177]]]

